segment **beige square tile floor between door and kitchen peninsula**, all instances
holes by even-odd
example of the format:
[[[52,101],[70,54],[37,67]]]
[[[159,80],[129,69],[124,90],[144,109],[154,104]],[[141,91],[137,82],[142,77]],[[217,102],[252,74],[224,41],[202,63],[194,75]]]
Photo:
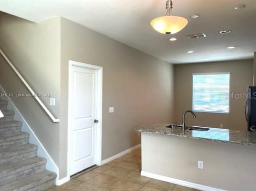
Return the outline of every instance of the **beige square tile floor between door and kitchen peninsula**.
[[[198,191],[140,175],[141,149],[135,149],[69,182],[46,191]]]

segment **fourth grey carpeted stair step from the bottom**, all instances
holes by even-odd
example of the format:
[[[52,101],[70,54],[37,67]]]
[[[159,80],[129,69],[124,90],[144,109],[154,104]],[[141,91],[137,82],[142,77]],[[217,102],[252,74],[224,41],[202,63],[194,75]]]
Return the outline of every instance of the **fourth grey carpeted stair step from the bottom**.
[[[18,132],[0,135],[0,149],[28,144],[29,133]]]

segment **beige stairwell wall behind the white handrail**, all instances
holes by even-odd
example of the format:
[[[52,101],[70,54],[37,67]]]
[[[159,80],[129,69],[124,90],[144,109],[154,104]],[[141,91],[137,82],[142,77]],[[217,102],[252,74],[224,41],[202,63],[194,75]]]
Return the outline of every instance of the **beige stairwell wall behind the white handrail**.
[[[0,48],[12,61],[32,89],[38,94],[56,98],[50,106],[50,97],[41,97],[55,117],[60,116],[60,18],[39,24],[1,14]],[[7,62],[0,56],[0,85],[7,93],[29,94]],[[52,159],[59,162],[58,123],[53,123],[32,97],[12,97],[38,139]]]

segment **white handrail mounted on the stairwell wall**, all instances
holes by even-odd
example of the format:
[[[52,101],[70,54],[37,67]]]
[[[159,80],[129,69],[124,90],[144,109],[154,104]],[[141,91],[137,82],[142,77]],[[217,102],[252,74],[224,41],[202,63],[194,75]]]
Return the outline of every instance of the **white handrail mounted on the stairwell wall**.
[[[4,57],[4,59],[6,60],[6,62],[8,62],[8,64],[10,65],[10,67],[12,68],[12,70],[17,74],[17,76],[20,78],[20,80],[23,82],[23,84],[28,88],[28,90],[30,91],[30,93],[32,95],[37,95],[34,90],[30,87],[30,85],[28,84],[28,82],[23,78],[23,76],[20,74],[20,72],[15,68],[15,66],[12,64],[12,62],[8,59],[8,57],[4,54],[4,52],[2,51],[2,49],[0,48],[0,53],[2,54],[2,56]],[[41,105],[41,107],[44,109],[44,111],[49,115],[49,117],[52,119],[53,122],[57,123],[60,122],[60,119],[56,119],[52,113],[49,111],[49,109],[44,105],[44,103],[41,101],[41,99],[38,96],[33,96],[36,101],[38,101],[38,103]]]

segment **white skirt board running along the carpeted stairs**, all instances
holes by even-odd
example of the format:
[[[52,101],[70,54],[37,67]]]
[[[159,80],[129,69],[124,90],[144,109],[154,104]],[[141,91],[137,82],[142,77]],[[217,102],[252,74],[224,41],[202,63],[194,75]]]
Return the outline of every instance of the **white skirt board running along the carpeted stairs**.
[[[2,86],[0,85],[0,91],[3,94],[6,94],[6,92],[4,91],[4,89],[2,88]],[[46,163],[46,169],[48,171],[52,171],[54,173],[57,174],[57,178],[56,178],[56,185],[59,185],[58,183],[58,179],[59,179],[59,168],[58,166],[54,163],[53,159],[50,157],[49,153],[46,151],[46,149],[44,148],[44,146],[42,145],[42,143],[39,141],[39,139],[36,137],[36,134],[34,133],[34,131],[31,129],[31,127],[28,125],[27,121],[24,119],[24,117],[21,115],[20,111],[18,110],[18,108],[14,105],[14,103],[12,102],[12,100],[10,99],[10,97],[1,97],[1,99],[8,101],[8,109],[10,110],[14,110],[15,111],[15,115],[14,115],[14,119],[17,121],[21,121],[22,122],[22,131],[27,132],[30,134],[29,137],[29,143],[37,145],[38,146],[38,151],[37,151],[37,155],[38,157],[42,157],[47,159],[47,163]]]

